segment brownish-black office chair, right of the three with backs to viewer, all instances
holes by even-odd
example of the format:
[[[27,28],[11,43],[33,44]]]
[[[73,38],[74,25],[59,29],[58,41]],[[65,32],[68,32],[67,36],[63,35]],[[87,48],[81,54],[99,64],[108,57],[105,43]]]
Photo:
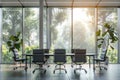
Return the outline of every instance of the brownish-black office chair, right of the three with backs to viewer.
[[[74,56],[73,62],[76,65],[79,65],[78,68],[74,69],[74,73],[76,73],[77,70],[84,70],[85,73],[87,73],[87,70],[82,68],[82,66],[81,66],[82,64],[87,62],[87,60],[86,60],[86,49],[75,49],[74,53],[75,53],[75,56]]]

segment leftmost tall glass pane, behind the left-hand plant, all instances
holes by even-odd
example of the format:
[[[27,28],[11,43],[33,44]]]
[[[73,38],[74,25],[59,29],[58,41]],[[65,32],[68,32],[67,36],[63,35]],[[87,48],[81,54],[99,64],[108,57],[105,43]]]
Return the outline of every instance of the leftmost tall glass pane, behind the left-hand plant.
[[[2,63],[10,63],[13,53],[9,52],[6,42],[11,35],[22,33],[22,9],[2,8],[2,15]]]

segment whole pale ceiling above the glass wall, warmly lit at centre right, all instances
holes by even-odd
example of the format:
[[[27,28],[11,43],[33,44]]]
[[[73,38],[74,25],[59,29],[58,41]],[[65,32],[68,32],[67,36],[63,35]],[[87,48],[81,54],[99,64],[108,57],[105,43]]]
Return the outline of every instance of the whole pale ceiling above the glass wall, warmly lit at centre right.
[[[40,6],[40,0],[0,0],[0,6]],[[66,6],[71,7],[72,2],[75,7],[96,7],[96,6],[116,6],[120,7],[120,0],[44,0],[46,6]]]

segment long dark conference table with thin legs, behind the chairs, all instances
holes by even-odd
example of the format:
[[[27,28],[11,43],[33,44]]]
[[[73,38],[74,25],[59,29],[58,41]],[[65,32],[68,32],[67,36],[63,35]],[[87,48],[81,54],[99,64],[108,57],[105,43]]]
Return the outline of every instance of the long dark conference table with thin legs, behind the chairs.
[[[74,56],[75,54],[74,53],[66,53],[66,57],[67,56]],[[25,62],[25,70],[27,71],[27,69],[28,69],[28,62],[27,62],[27,60],[28,60],[28,57],[30,58],[29,59],[29,64],[30,64],[30,68],[31,68],[31,57],[33,56],[33,54],[26,54],[26,62]],[[52,53],[44,53],[44,56],[53,56],[54,57],[54,54]],[[88,56],[89,57],[89,68],[91,68],[91,57],[92,57],[92,60],[93,60],[93,70],[95,70],[95,61],[94,61],[94,59],[95,59],[95,53],[86,53],[86,56]]]

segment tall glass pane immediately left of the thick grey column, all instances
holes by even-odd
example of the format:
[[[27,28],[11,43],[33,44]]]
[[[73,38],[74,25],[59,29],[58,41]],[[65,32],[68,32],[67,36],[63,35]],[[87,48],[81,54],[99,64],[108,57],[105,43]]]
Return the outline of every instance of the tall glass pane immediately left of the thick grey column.
[[[23,47],[25,54],[39,48],[39,8],[24,8]]]

